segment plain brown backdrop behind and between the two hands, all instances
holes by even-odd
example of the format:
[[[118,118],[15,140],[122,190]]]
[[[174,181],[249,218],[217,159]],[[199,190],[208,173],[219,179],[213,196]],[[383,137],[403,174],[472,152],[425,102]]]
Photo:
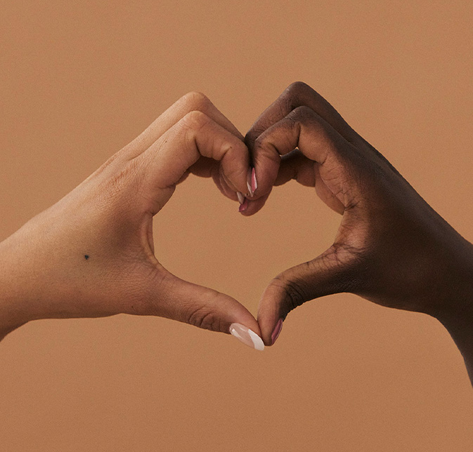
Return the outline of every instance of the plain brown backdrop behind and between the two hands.
[[[473,239],[472,2],[351,3],[2,1],[0,237],[186,92],[245,133],[300,79]],[[323,251],[339,218],[295,182],[254,218],[236,210],[189,178],[157,215],[157,254],[256,314],[271,277]],[[354,295],[299,308],[264,353],[131,316],[36,321],[0,344],[2,452],[472,449],[448,333]]]

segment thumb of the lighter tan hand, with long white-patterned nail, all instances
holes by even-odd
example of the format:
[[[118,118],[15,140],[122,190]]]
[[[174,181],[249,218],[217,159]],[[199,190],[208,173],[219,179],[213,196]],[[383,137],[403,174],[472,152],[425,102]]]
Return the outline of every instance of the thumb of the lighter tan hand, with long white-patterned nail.
[[[165,272],[153,291],[153,314],[210,331],[231,333],[245,345],[264,350],[257,320],[235,298]]]

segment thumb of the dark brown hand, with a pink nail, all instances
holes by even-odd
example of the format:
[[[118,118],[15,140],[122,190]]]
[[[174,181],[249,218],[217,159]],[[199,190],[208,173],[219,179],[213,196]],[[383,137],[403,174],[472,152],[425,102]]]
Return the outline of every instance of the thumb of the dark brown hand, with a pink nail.
[[[309,262],[278,274],[266,287],[258,307],[258,323],[265,345],[273,345],[290,311],[306,301],[349,291],[353,272],[332,246]]]

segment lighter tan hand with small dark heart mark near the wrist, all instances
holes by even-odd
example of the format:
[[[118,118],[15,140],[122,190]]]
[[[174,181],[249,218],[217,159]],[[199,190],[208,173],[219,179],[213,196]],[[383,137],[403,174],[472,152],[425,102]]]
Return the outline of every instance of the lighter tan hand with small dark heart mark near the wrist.
[[[248,149],[231,122],[200,93],[181,98],[1,244],[0,338],[33,319],[118,313],[224,333],[238,323],[259,334],[245,307],[169,273],[153,245],[153,216],[189,173],[212,176],[236,200],[248,171]]]

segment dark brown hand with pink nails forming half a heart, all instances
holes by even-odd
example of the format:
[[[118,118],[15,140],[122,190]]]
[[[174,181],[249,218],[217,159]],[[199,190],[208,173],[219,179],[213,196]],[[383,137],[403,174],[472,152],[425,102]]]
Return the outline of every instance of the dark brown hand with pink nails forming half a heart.
[[[272,345],[278,320],[302,303],[355,293],[439,319],[473,381],[472,244],[306,84],[289,86],[245,142],[258,188],[244,215],[264,205],[273,185],[291,179],[315,187],[342,214],[327,251],[279,274],[264,291],[258,312],[264,343]]]

